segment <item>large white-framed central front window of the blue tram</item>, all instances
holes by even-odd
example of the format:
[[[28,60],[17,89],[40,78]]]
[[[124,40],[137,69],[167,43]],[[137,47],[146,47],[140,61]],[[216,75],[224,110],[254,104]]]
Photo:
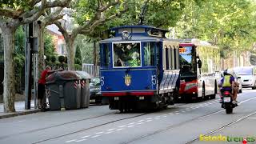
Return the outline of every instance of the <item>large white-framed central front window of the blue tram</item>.
[[[114,66],[141,66],[141,46],[135,43],[114,43]]]

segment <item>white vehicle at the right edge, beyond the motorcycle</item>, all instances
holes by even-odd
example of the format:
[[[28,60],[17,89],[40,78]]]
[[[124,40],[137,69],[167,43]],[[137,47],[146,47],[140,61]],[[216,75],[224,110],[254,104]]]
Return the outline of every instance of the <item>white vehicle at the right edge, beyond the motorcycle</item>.
[[[256,70],[254,66],[235,67],[235,73],[241,77],[242,87],[251,87],[256,89]]]

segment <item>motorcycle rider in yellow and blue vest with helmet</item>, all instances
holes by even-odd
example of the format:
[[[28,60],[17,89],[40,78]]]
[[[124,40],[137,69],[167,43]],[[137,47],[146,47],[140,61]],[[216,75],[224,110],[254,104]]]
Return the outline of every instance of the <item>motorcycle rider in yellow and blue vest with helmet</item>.
[[[221,94],[226,90],[230,91],[233,101],[235,102],[235,104],[238,105],[238,102],[236,101],[236,97],[234,97],[234,95],[235,95],[234,86],[237,86],[238,83],[234,82],[235,78],[232,74],[230,74],[230,71],[224,70],[223,75],[224,76],[218,83],[218,86],[221,88]]]

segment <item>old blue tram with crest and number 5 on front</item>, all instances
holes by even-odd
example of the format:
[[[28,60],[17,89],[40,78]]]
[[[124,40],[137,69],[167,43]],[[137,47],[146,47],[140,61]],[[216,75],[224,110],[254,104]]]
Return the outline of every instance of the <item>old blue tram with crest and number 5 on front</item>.
[[[174,104],[179,86],[179,45],[168,30],[120,26],[100,42],[102,96],[111,110],[158,109]]]

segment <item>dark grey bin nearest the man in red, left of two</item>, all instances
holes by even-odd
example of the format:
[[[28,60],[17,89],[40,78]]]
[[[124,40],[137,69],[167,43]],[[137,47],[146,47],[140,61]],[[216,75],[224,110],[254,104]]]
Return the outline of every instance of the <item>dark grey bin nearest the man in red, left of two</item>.
[[[74,110],[81,107],[81,84],[75,71],[64,70],[46,78],[50,110]]]

